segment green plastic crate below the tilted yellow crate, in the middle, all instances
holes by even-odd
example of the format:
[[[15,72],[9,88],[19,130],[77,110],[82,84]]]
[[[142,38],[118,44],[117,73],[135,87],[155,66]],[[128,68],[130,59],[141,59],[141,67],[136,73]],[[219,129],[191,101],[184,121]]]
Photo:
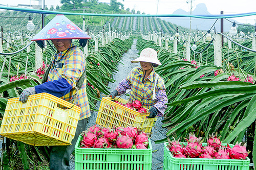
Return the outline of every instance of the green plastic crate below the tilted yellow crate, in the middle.
[[[80,148],[81,137],[75,145],[75,169],[88,170],[151,170],[152,144],[148,149]]]

